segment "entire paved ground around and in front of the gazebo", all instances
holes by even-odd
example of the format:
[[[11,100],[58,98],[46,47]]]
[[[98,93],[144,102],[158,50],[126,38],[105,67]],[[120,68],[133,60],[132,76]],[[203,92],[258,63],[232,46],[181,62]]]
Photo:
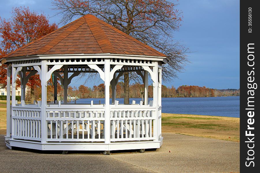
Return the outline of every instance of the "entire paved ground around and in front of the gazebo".
[[[0,172],[239,172],[238,142],[162,133],[157,151],[37,151],[5,146],[0,135]],[[171,152],[169,152],[171,151]]]

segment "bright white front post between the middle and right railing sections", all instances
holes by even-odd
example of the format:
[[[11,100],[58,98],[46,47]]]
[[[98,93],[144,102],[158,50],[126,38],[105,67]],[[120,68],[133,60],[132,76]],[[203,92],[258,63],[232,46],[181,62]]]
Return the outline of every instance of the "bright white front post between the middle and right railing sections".
[[[105,143],[110,143],[110,106],[109,106],[109,86],[110,86],[110,59],[105,59],[104,64],[105,82]]]

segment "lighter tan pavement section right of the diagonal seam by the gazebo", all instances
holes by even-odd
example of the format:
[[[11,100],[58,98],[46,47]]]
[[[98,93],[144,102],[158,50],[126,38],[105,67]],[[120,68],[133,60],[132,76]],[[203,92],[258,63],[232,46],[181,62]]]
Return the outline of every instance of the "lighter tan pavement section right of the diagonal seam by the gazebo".
[[[225,140],[162,133],[157,151],[109,157],[156,172],[239,172],[240,144]],[[169,152],[171,151],[171,152]]]

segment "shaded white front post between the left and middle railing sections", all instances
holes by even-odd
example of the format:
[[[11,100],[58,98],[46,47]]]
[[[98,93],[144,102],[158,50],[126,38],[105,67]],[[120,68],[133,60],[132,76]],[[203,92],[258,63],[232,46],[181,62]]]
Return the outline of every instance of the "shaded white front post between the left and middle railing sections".
[[[42,143],[46,143],[47,123],[46,123],[46,106],[47,106],[47,76],[48,66],[46,60],[42,60],[41,79],[42,79],[42,117],[41,117],[41,130],[42,130]]]

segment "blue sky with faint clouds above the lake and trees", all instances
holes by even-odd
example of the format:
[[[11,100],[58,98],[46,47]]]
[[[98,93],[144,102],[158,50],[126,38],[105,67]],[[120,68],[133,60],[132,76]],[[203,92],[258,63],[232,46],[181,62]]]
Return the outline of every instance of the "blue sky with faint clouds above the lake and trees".
[[[51,10],[51,0],[1,0],[0,16],[11,17],[12,7],[28,6],[38,13],[44,12],[50,22],[59,22]],[[176,40],[190,48],[185,70],[179,79],[166,86],[198,85],[216,89],[240,88],[239,55],[239,1],[238,0],[179,0],[177,9],[183,12],[183,22]],[[54,16],[54,17],[53,17]],[[59,26],[61,27],[61,26]],[[73,80],[72,86],[82,81]],[[89,82],[92,87],[99,82]]]

